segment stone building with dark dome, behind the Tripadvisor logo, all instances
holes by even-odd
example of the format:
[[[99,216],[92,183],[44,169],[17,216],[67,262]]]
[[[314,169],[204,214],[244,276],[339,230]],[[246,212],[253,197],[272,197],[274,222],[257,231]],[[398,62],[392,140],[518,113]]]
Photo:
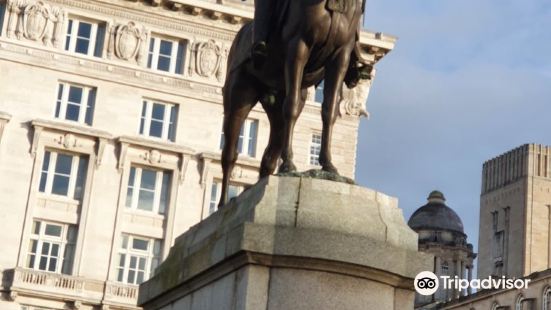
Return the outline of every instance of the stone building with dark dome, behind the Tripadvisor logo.
[[[434,269],[431,270],[434,274],[468,280],[472,278],[476,254],[472,244],[467,243],[461,218],[446,205],[442,192],[432,191],[427,198],[427,204],[411,215],[408,225],[419,234],[419,251],[434,255]],[[441,285],[432,296],[417,294],[415,306],[433,308],[442,302],[470,293],[467,290],[459,292],[443,289]]]

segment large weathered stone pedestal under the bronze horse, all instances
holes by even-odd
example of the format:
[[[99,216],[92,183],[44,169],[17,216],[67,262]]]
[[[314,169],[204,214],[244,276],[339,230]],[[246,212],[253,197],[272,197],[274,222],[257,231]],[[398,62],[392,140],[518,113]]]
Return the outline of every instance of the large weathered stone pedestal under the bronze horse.
[[[413,309],[432,270],[397,199],[269,177],[178,237],[140,286],[145,310]]]

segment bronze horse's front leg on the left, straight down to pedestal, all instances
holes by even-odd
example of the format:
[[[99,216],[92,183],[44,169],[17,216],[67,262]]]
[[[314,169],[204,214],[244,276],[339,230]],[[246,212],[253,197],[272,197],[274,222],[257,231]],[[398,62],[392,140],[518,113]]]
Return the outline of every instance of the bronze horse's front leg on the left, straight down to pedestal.
[[[283,150],[279,172],[297,170],[293,163],[293,131],[304,105],[301,98],[304,66],[310,57],[310,48],[297,39],[289,44],[285,60],[285,101],[283,102]]]

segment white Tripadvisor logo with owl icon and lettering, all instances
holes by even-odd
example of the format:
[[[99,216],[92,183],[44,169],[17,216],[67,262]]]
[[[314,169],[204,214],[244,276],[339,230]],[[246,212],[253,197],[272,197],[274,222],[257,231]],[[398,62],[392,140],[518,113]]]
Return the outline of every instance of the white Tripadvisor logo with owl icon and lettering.
[[[530,283],[530,279],[507,279],[505,277],[489,277],[486,279],[460,279],[458,276],[440,276],[437,277],[430,271],[420,272],[414,280],[415,291],[421,295],[432,295],[438,290],[439,284],[442,283],[444,289],[464,290],[467,288],[473,289],[526,289]]]

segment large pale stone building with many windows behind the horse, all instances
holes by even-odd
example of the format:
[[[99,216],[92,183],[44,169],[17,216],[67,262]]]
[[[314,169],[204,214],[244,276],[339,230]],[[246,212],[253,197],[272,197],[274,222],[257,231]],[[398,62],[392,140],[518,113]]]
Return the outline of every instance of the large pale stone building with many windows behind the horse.
[[[215,211],[228,49],[240,0],[0,0],[0,309],[135,309],[176,236]],[[360,35],[375,64],[394,46]],[[354,176],[371,82],[346,90],[333,158]],[[317,166],[320,89],[296,126]],[[260,106],[230,189],[256,182]]]

